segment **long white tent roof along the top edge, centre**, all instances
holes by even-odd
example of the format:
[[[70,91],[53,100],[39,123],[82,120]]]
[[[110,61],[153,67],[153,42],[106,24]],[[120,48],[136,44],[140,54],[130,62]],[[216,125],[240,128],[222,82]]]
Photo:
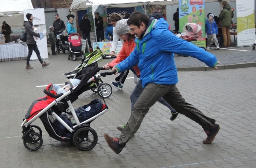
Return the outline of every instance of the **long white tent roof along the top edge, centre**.
[[[217,2],[218,0],[205,0],[205,2]],[[230,1],[230,0],[229,0]],[[179,0],[73,0],[70,10],[80,11],[91,7],[91,4],[107,7],[134,7],[148,5],[174,5],[179,4]]]

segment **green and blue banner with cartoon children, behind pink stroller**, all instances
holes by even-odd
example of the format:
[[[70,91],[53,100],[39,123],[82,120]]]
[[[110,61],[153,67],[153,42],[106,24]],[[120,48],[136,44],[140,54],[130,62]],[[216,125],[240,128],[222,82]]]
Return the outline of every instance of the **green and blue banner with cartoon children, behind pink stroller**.
[[[180,32],[186,30],[186,23],[196,23],[201,26],[202,36],[193,43],[205,47],[204,0],[179,0],[179,18]]]

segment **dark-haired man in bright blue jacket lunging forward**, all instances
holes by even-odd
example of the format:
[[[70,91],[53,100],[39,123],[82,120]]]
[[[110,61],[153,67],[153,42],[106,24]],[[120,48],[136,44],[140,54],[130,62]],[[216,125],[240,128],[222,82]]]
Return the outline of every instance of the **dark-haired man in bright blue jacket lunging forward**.
[[[215,124],[215,119],[205,116],[194,106],[188,104],[180,94],[176,87],[178,77],[173,53],[190,55],[217,70],[216,57],[173,35],[168,30],[169,25],[163,18],[150,19],[141,12],[134,12],[127,24],[131,34],[138,38],[136,39],[137,46],[129,57],[114,66],[112,70],[116,70],[117,74],[138,65],[141,72],[140,80],[145,89],[134,104],[132,114],[120,137],[112,138],[108,134],[104,134],[110,148],[116,154],[120,153],[139,129],[149,108],[161,97],[181,114],[202,126],[207,134],[203,143],[210,144],[220,126]]]

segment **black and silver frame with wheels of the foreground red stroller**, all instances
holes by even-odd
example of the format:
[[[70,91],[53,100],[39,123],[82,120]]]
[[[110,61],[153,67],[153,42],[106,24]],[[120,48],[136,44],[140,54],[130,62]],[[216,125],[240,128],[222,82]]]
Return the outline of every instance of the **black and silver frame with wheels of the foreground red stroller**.
[[[88,69],[88,71],[99,71],[103,70],[103,68],[98,67],[98,63],[93,63],[89,67],[86,67],[84,69]],[[96,73],[97,73],[96,72]],[[94,73],[94,74],[96,74]],[[44,90],[44,93],[50,97],[56,98],[53,102],[51,102],[47,107],[45,107],[43,110],[41,110],[39,113],[37,113],[35,116],[33,116],[29,121],[27,121],[28,118],[30,118],[31,114],[27,113],[25,116],[27,119],[24,119],[22,123],[22,128],[23,128],[23,143],[24,146],[31,151],[38,150],[42,144],[43,144],[43,139],[42,139],[42,130],[40,127],[31,125],[34,120],[37,118],[40,118],[42,120],[42,123],[48,132],[49,136],[52,138],[61,141],[61,142],[66,142],[66,143],[73,143],[74,146],[79,149],[79,150],[90,150],[95,147],[95,145],[98,142],[98,136],[96,131],[90,127],[90,123],[96,119],[98,116],[104,114],[106,111],[108,111],[108,107],[105,104],[101,111],[96,114],[93,117],[90,117],[87,120],[84,120],[83,122],[80,122],[79,117],[77,117],[75,110],[73,108],[72,102],[74,102],[80,94],[82,94],[84,91],[87,91],[90,88],[92,83],[95,83],[96,86],[99,86],[98,84],[98,79],[103,76],[105,77],[106,75],[111,75],[114,74],[115,71],[112,72],[102,72],[99,74],[96,74],[93,77],[88,77],[86,75],[88,74],[83,74],[81,73],[81,82],[79,85],[77,85],[74,88],[71,88],[69,91],[66,93],[60,93],[60,94],[53,94],[46,89]],[[89,79],[88,79],[89,78]],[[87,80],[88,79],[88,80]],[[86,81],[85,81],[86,80]],[[65,88],[65,87],[63,87]],[[104,99],[103,99],[104,100]],[[67,113],[68,108],[70,109],[74,120],[76,122],[76,125],[73,125],[73,127],[70,127],[67,123],[64,122],[64,120],[60,117],[62,112]],[[29,112],[29,111],[28,111]],[[51,118],[50,118],[51,117]],[[54,120],[51,120],[52,118],[55,118]],[[72,137],[68,136],[60,136],[56,133],[56,128],[54,129],[54,122],[56,123],[58,121],[61,125],[67,129],[70,134],[72,134]]]

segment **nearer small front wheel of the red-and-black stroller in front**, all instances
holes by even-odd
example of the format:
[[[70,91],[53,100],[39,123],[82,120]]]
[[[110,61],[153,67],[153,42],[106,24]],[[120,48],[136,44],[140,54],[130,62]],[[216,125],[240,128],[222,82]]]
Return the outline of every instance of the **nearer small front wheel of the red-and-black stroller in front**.
[[[35,151],[43,145],[43,138],[39,133],[30,132],[27,137],[23,139],[23,144],[28,150]]]

